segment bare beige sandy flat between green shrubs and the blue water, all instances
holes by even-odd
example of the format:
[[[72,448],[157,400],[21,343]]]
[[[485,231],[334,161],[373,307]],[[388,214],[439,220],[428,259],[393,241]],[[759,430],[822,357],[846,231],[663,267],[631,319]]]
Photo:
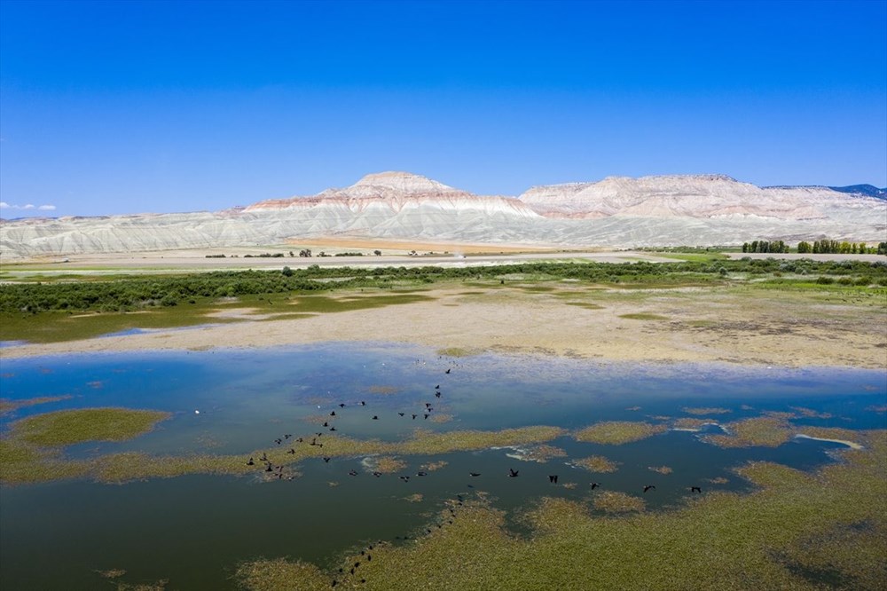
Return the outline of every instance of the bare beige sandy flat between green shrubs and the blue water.
[[[730,288],[615,292],[559,285],[554,292],[508,286],[431,288],[421,292],[434,298],[429,301],[299,319],[269,319],[267,309],[255,314],[243,309],[227,312],[239,320],[231,324],[9,347],[2,354],[12,358],[385,341],[619,361],[887,368],[883,303],[851,305],[806,294]],[[298,311],[297,306],[286,311]],[[656,318],[623,318],[638,313]]]

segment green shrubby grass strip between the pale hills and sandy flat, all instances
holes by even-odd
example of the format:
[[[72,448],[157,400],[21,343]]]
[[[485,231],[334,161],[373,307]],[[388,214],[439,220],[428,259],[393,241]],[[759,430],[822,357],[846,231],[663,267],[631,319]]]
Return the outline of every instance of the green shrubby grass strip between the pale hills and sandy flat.
[[[813,301],[887,305],[887,263],[728,260],[715,253],[679,256],[682,262],[664,264],[551,261],[467,268],[309,267],[288,272],[18,278],[0,284],[0,341],[51,343],[132,329],[236,322],[217,315],[232,308],[248,308],[265,320],[299,319],[427,301],[432,286],[473,288],[466,297],[474,293],[483,298],[498,288],[518,288],[563,297],[569,305],[588,310],[614,299],[640,303],[656,290],[686,288],[744,289],[753,297],[796,293]],[[669,319],[643,310],[622,318]]]

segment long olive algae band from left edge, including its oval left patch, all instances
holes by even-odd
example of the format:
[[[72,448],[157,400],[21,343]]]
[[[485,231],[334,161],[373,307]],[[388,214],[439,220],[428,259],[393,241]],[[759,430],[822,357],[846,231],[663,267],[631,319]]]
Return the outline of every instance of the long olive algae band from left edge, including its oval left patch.
[[[95,413],[86,411],[96,411]],[[120,411],[121,413],[108,413]],[[59,416],[62,417],[59,423]],[[96,416],[130,417],[130,421],[113,422],[98,428],[87,418]],[[565,432],[558,427],[523,427],[501,431],[450,431],[436,433],[417,429],[412,437],[401,442],[382,442],[376,439],[352,439],[349,437],[301,437],[287,441],[290,447],[276,446],[237,455],[209,453],[184,456],[151,455],[140,452],[111,453],[90,460],[71,460],[60,453],[62,445],[90,440],[121,440],[135,437],[167,418],[169,414],[154,411],[127,411],[126,409],[85,409],[84,411],[60,411],[40,414],[13,423],[12,434],[0,438],[0,482],[24,484],[86,477],[106,484],[123,484],[149,478],[179,477],[187,474],[248,476],[264,479],[278,478],[265,474],[265,462],[284,467],[281,478],[293,479],[301,474],[295,466],[306,459],[321,457],[361,457],[367,455],[393,456],[403,454],[432,455],[460,451],[475,451],[493,446],[527,445],[544,443]],[[45,417],[49,417],[48,419]],[[73,420],[72,420],[73,417]],[[138,417],[139,421],[133,421]],[[84,426],[83,423],[86,423]],[[74,425],[77,429],[57,429]],[[113,429],[112,429],[113,427]],[[129,437],[123,437],[129,434]],[[318,445],[310,445],[315,439]],[[64,443],[62,443],[64,442]],[[266,458],[266,460],[262,460]],[[249,461],[252,460],[252,464]],[[389,463],[392,471],[403,469],[405,463],[393,457],[381,458],[384,466]],[[443,468],[446,462],[432,461],[431,469]],[[382,470],[379,470],[382,471]]]

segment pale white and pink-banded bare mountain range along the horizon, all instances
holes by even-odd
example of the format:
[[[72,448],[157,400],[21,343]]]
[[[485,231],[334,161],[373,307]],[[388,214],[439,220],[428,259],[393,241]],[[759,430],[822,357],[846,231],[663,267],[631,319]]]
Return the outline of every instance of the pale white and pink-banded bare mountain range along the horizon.
[[[319,237],[530,247],[730,245],[887,235],[883,189],[757,187],[723,175],[607,177],[475,195],[406,172],[218,212],[0,222],[4,260],[88,252],[310,243]]]

